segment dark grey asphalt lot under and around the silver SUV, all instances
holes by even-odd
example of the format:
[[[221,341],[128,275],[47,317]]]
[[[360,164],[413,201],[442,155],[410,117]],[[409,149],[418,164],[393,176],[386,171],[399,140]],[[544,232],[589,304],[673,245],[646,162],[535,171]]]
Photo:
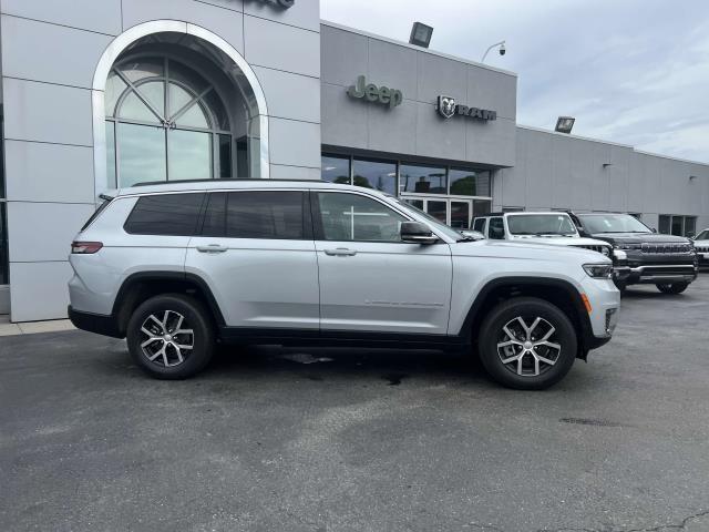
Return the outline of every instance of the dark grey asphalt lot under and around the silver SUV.
[[[709,275],[630,289],[544,392],[459,355],[222,352],[145,377],[123,341],[0,339],[0,530],[707,531]]]

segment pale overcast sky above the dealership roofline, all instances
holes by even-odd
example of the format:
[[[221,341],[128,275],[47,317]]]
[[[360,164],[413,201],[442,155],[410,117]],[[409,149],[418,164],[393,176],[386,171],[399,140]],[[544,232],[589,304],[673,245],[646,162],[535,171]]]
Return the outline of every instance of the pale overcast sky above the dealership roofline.
[[[518,74],[517,123],[709,163],[709,0],[320,0],[326,20]]]

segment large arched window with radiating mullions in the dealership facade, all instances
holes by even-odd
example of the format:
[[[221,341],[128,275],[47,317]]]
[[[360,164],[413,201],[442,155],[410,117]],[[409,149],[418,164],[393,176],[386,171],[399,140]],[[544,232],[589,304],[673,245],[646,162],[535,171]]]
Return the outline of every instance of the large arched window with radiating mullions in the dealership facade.
[[[109,183],[232,176],[228,113],[193,69],[166,58],[120,61],[104,101]]]

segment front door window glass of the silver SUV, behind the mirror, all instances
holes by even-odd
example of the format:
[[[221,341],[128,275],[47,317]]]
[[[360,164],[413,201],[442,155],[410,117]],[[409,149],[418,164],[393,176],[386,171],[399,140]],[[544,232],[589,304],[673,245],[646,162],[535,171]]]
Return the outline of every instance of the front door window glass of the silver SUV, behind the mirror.
[[[401,242],[401,223],[407,218],[372,198],[319,193],[318,206],[325,241]]]

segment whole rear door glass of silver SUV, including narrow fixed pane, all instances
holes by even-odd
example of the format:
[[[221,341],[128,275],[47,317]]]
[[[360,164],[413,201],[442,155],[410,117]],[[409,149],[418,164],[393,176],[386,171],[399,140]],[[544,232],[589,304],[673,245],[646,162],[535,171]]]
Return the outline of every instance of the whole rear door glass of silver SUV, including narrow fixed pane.
[[[299,241],[306,237],[302,192],[254,191],[209,194],[203,236]]]

